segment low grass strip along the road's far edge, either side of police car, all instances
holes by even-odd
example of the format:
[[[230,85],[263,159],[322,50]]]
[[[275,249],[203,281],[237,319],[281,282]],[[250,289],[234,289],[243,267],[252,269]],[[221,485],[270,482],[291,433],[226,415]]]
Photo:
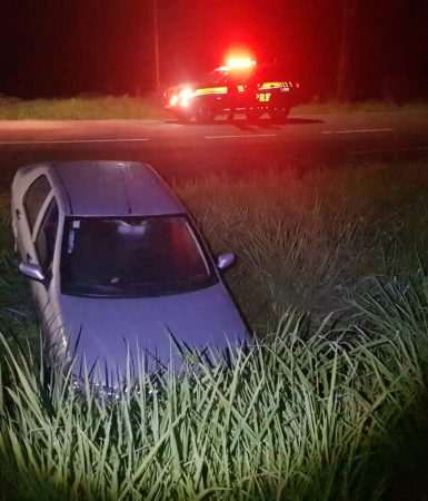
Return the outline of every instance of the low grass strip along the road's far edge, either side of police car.
[[[33,99],[23,101],[0,96],[0,120],[108,120],[166,119],[160,96],[88,96],[63,99]],[[344,112],[427,112],[428,102],[397,104],[392,101],[312,101],[291,110],[298,115],[332,115]]]

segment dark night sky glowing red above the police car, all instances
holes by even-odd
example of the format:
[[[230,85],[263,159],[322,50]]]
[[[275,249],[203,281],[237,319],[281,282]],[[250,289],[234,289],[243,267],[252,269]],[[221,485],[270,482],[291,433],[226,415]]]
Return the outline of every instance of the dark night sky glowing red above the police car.
[[[158,0],[162,86],[247,47],[332,97],[345,1],[349,96],[428,97],[428,0]],[[153,53],[152,0],[0,0],[0,94],[145,94]]]

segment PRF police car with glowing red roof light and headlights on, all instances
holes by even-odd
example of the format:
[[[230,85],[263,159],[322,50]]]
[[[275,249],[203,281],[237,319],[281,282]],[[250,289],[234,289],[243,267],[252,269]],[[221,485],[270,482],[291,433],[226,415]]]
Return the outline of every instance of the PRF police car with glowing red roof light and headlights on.
[[[235,112],[245,114],[250,120],[268,114],[279,121],[299,104],[300,85],[286,79],[277,63],[230,58],[199,81],[170,87],[162,98],[165,108],[182,122],[195,119],[209,124],[218,115],[232,118]]]

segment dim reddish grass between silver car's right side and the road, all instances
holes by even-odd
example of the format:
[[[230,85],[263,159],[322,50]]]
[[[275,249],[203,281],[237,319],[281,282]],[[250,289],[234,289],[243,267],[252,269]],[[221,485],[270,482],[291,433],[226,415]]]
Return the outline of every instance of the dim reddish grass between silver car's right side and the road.
[[[290,305],[342,310],[374,276],[427,262],[426,163],[216,176],[176,189],[213,250],[238,255],[229,283],[258,330]]]

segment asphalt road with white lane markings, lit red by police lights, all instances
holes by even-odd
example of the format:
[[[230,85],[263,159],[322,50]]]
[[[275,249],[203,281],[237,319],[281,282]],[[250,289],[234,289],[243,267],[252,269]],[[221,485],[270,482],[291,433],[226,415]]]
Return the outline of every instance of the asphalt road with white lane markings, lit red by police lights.
[[[147,161],[169,179],[414,158],[428,158],[427,112],[291,115],[281,125],[250,125],[243,117],[207,126],[173,119],[0,121],[1,188],[18,167],[50,160]]]

